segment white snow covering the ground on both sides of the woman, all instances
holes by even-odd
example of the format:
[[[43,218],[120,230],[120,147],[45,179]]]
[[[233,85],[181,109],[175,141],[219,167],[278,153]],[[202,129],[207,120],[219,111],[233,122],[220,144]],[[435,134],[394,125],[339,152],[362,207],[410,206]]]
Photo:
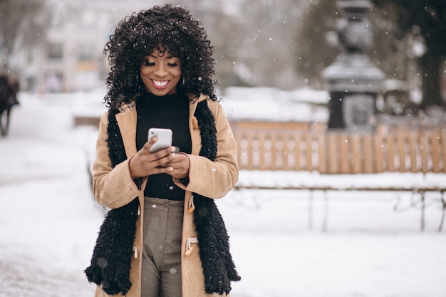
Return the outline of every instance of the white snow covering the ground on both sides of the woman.
[[[73,127],[73,115],[85,105],[102,113],[102,96],[21,94],[11,134],[0,139],[1,297],[93,296],[83,269],[103,219],[87,173],[96,129]],[[296,179],[286,172],[240,178]],[[370,177],[357,178],[368,184]],[[420,232],[419,197],[407,192],[234,190],[217,202],[242,276],[232,296],[445,297],[439,198],[427,197]]]

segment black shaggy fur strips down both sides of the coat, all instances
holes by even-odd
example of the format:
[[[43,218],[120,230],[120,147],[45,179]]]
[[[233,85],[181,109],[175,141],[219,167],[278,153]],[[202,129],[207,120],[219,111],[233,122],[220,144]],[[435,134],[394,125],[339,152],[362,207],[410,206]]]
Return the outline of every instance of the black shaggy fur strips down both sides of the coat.
[[[115,119],[117,110],[110,110],[108,115],[109,157],[112,166],[126,159],[123,140]],[[197,104],[195,111],[199,131],[202,137],[202,149],[199,155],[214,160],[217,157],[217,129],[215,119],[206,101]],[[142,179],[135,181],[140,187]],[[231,281],[239,281],[229,251],[229,236],[222,215],[214,199],[194,193],[195,217],[199,257],[204,274],[206,293],[223,295],[231,291]],[[138,199],[130,204],[108,212],[100,227],[90,266],[85,269],[88,281],[102,285],[109,295],[125,293],[130,289],[130,264],[135,241]],[[115,221],[119,218],[121,221]],[[117,222],[123,222],[117,224]],[[115,255],[119,254],[117,257]],[[104,265],[106,263],[107,265]]]

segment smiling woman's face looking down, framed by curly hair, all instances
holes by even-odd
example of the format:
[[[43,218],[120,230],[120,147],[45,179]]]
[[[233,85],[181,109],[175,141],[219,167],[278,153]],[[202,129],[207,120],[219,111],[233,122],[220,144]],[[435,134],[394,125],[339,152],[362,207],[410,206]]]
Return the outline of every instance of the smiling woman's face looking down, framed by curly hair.
[[[147,92],[156,96],[176,94],[181,77],[180,58],[172,56],[169,48],[159,46],[142,60],[140,76]]]

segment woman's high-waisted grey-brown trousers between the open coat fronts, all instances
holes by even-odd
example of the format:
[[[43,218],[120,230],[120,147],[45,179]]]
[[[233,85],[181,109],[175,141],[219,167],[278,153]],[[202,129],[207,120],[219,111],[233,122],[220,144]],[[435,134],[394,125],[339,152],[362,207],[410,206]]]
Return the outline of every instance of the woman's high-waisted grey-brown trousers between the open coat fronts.
[[[185,202],[144,197],[141,297],[181,297]]]

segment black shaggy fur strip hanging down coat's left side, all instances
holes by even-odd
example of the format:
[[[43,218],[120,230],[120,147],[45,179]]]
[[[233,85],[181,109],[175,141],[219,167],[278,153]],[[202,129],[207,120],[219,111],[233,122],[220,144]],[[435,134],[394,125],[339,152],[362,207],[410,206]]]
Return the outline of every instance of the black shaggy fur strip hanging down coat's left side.
[[[127,159],[123,137],[116,121],[118,110],[108,113],[107,135],[108,157],[112,167]],[[135,179],[138,187],[142,178]],[[130,266],[133,256],[133,242],[138,219],[138,197],[129,204],[118,209],[111,209],[100,226],[90,266],[85,274],[90,283],[101,286],[108,295],[122,293],[125,295],[132,286],[130,282]]]

